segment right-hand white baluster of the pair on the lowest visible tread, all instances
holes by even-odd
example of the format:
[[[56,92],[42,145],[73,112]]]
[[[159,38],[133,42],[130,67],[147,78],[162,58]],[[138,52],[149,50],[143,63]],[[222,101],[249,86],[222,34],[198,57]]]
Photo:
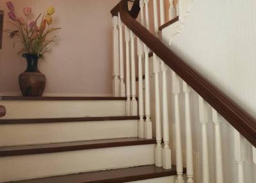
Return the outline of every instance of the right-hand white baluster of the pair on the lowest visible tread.
[[[168,120],[168,97],[167,97],[167,78],[166,71],[167,67],[163,61],[161,61],[161,70],[162,70],[162,105],[163,105],[163,168],[170,169],[172,168],[172,157],[171,150],[169,147],[169,120]]]

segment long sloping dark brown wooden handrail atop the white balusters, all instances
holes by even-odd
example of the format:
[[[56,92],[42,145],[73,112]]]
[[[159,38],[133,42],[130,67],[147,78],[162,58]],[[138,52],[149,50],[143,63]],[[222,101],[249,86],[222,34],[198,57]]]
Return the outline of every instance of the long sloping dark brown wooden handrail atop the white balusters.
[[[139,1],[135,1],[134,7],[140,10]],[[137,7],[135,7],[137,6]],[[122,22],[146,44],[150,50],[156,53],[161,60],[176,72],[181,79],[195,90],[205,101],[207,101],[223,118],[227,120],[244,138],[246,138],[254,147],[256,147],[256,120],[248,114],[236,102],[230,99],[225,93],[221,92],[216,86],[207,81],[195,69],[182,61],[166,45],[161,42],[155,35],[144,28],[128,10],[127,0],[122,0],[111,10],[112,15],[120,13]],[[139,12],[137,12],[139,13]]]

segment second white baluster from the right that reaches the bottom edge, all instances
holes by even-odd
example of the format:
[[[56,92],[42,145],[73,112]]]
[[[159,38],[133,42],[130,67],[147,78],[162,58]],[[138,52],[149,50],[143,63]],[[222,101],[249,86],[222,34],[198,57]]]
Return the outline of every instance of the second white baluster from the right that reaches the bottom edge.
[[[221,150],[221,133],[220,133],[220,115],[212,108],[212,122],[215,127],[215,173],[216,183],[223,183],[223,164],[222,164],[222,150]]]

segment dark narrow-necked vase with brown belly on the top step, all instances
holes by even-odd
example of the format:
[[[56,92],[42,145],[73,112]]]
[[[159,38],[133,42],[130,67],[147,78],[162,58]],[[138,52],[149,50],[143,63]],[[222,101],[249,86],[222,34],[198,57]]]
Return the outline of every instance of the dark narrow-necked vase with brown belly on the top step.
[[[21,93],[25,97],[41,97],[44,93],[46,77],[37,68],[39,57],[36,54],[22,56],[26,58],[28,66],[19,76]]]

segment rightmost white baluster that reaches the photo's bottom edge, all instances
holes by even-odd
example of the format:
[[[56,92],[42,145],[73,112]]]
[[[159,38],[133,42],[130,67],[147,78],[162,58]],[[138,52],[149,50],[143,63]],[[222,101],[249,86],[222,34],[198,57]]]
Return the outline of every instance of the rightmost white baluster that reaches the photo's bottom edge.
[[[241,139],[240,133],[234,129],[234,150],[235,158],[237,162],[237,183],[244,183],[244,160],[243,160],[243,149],[244,144]]]

